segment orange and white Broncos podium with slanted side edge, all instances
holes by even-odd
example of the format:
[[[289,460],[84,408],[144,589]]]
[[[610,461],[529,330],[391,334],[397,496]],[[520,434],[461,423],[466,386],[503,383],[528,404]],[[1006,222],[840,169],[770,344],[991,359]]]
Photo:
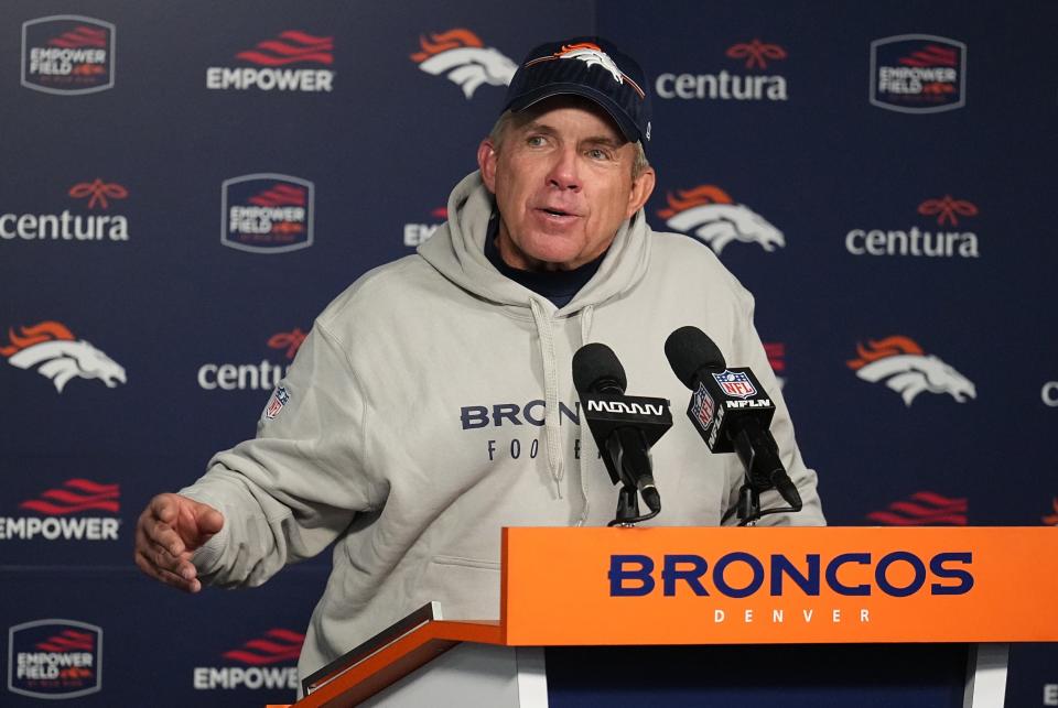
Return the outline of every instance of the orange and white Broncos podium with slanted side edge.
[[[498,621],[427,606],[317,706],[1002,706],[1058,641],[1048,527],[505,529]]]

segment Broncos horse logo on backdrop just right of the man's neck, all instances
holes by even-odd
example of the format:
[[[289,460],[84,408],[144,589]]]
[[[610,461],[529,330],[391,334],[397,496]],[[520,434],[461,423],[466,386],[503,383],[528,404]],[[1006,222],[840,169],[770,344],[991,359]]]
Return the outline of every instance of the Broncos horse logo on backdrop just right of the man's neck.
[[[764,217],[742,204],[717,186],[703,184],[691,189],[678,189],[677,196],[666,195],[668,208],[658,209],[665,225],[693,236],[713,249],[717,255],[732,241],[756,243],[765,251],[786,246],[782,232]]]

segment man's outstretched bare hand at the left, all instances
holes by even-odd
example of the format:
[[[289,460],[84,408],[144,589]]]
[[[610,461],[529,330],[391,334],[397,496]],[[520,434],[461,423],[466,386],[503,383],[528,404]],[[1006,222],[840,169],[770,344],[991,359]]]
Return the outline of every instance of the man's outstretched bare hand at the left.
[[[202,589],[191,554],[224,525],[224,514],[180,494],[159,494],[136,524],[136,565],[185,592]]]

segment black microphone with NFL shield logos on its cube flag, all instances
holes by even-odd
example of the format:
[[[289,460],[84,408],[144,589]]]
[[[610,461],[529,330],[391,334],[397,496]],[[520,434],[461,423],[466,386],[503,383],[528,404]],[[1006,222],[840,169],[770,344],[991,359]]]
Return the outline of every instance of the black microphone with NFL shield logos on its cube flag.
[[[720,348],[698,327],[680,327],[665,341],[677,378],[693,391],[687,415],[713,453],[738,454],[751,486],[775,488],[795,511],[801,495],[771,436],[775,404],[748,368],[728,369]]]

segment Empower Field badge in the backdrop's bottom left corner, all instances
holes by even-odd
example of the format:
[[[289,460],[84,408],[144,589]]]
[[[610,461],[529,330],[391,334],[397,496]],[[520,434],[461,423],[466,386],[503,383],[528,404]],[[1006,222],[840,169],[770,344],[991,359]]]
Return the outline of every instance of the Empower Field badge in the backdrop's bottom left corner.
[[[77,698],[102,688],[102,629],[36,620],[8,631],[8,690],[31,698]]]

